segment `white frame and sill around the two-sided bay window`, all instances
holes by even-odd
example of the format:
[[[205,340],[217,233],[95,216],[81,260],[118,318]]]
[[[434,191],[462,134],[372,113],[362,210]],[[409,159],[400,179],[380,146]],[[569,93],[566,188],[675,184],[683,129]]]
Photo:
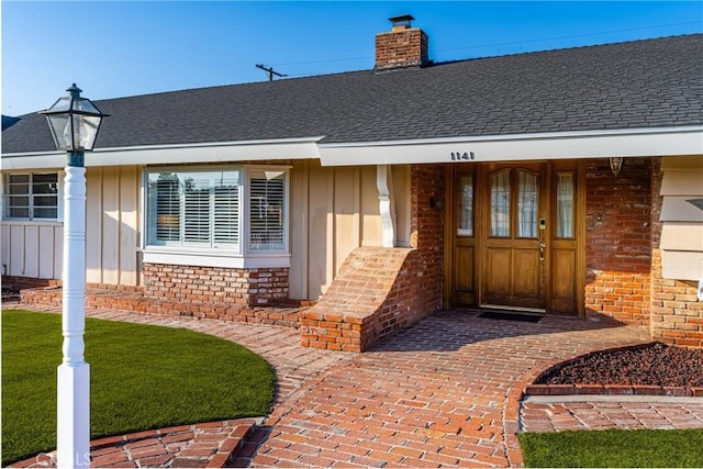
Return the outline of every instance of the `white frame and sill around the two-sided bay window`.
[[[290,169],[288,165],[197,165],[197,166],[147,166],[142,171],[141,222],[142,261],[148,264],[174,264],[202,267],[277,268],[290,267]],[[200,247],[194,245],[149,245],[148,177],[156,172],[204,172],[239,171],[239,241],[236,247]],[[249,194],[250,175],[254,171],[283,172],[283,243],[279,250],[252,250],[249,248]]]

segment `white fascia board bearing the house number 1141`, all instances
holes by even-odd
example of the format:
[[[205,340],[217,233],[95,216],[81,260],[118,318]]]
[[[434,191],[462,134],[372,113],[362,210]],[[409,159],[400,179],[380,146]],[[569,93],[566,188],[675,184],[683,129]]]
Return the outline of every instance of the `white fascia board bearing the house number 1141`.
[[[703,154],[703,125],[320,144],[322,166]]]

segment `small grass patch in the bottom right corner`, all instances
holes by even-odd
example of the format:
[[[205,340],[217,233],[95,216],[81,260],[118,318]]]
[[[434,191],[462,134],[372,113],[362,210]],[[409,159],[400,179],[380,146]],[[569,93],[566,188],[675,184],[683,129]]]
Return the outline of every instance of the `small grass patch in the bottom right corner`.
[[[526,467],[703,467],[703,429],[523,433],[518,437]]]

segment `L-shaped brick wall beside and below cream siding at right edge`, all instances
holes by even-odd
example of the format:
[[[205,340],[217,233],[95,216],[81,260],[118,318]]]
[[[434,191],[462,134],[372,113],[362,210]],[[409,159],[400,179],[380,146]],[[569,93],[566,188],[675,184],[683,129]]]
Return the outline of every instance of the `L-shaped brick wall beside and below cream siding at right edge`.
[[[668,344],[703,348],[703,302],[698,300],[696,282],[661,277],[661,158],[652,158],[651,337]]]

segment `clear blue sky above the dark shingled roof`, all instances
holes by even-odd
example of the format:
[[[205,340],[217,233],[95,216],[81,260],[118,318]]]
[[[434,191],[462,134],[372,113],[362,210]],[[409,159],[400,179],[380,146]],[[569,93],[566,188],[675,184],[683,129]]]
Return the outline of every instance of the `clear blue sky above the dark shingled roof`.
[[[1,3],[2,114],[373,68],[375,36],[412,14],[437,62],[703,32],[703,1],[20,1]],[[692,59],[701,59],[701,57]],[[223,103],[226,105],[226,103]]]

